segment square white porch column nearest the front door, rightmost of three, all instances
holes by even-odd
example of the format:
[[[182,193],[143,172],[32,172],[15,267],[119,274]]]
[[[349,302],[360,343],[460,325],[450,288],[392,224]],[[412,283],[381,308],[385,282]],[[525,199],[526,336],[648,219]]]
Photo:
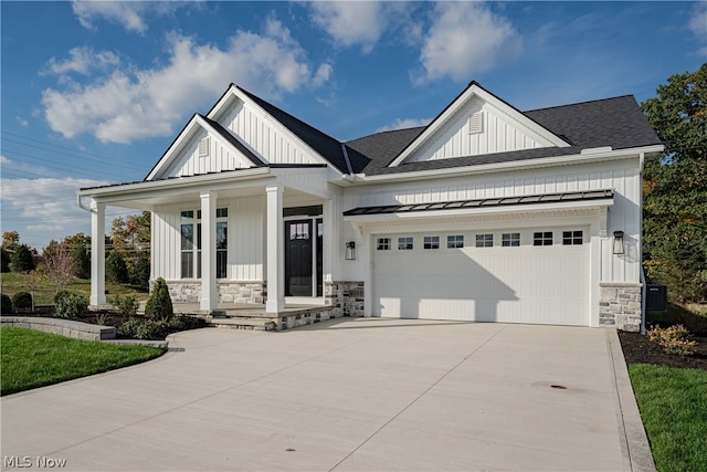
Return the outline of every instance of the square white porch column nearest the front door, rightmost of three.
[[[285,307],[285,240],[283,230],[283,188],[265,188],[267,196],[267,300],[266,313],[279,313]]]

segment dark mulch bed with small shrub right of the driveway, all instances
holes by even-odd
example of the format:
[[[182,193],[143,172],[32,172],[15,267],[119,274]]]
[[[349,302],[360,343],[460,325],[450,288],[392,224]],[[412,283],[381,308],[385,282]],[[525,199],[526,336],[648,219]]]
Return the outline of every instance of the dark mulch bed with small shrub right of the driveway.
[[[667,354],[657,343],[639,333],[619,332],[619,339],[626,364],[653,364],[656,366],[707,370],[707,337],[690,336],[697,342],[693,356]]]

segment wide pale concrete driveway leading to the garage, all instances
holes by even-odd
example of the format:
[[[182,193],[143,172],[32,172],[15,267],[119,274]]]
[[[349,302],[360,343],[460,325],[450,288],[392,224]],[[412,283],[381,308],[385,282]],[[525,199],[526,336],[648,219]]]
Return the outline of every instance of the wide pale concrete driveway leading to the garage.
[[[344,318],[170,348],[4,397],[3,470],[652,468],[609,329]]]

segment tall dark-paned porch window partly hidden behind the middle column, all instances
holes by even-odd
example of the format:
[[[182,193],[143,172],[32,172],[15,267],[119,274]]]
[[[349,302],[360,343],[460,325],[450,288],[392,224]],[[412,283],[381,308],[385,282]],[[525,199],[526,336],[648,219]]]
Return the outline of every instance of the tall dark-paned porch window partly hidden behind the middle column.
[[[196,216],[196,218],[194,218]],[[229,209],[217,209],[217,279],[228,277]],[[201,279],[201,210],[183,210],[181,219],[181,277]]]

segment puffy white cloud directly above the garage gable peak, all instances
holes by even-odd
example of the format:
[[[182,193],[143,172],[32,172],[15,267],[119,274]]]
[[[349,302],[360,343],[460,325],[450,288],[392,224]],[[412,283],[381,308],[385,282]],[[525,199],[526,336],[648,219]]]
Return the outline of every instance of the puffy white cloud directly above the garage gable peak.
[[[520,52],[521,42],[510,22],[477,2],[440,2],[434,9],[420,61],[423,83],[449,76],[471,81],[503,57]]]

